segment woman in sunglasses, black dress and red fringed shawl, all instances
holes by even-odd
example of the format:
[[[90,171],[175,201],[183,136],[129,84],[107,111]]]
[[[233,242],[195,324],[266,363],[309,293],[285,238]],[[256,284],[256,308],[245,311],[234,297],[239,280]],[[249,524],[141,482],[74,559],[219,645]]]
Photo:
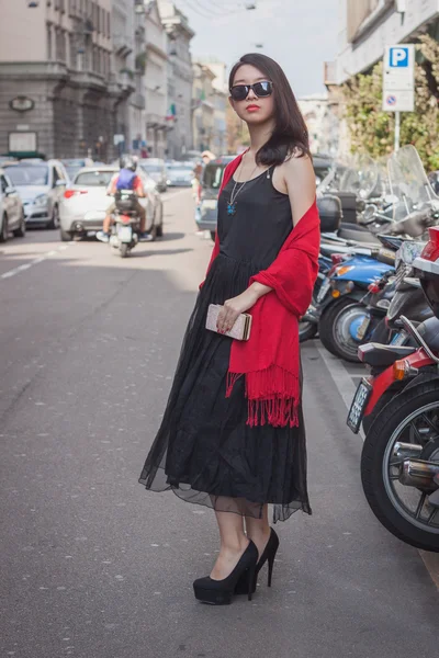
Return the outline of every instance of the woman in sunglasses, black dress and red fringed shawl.
[[[246,55],[229,90],[251,145],[226,168],[215,247],[139,479],[214,508],[219,554],[194,591],[216,604],[234,593],[251,598],[266,561],[270,585],[279,538],[268,503],[274,522],[299,509],[311,514],[299,317],[319,248],[307,131],[285,75],[269,57]],[[223,306],[217,333],[205,328],[210,304]],[[247,311],[250,339],[225,336]]]

